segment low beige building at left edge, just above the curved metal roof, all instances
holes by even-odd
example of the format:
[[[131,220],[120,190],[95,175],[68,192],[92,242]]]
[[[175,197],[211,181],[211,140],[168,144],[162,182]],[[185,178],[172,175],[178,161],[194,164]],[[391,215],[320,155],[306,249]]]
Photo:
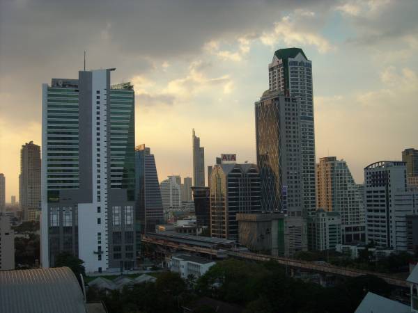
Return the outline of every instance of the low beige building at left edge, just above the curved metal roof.
[[[0,271],[15,269],[15,233],[9,218],[0,213]]]

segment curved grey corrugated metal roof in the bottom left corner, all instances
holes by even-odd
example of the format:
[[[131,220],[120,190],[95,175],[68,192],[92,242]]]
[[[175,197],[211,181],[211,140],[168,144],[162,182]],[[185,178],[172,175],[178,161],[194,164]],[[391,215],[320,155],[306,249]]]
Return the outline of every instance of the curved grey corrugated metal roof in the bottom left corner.
[[[86,313],[86,306],[70,268],[37,268],[0,271],[0,312]]]

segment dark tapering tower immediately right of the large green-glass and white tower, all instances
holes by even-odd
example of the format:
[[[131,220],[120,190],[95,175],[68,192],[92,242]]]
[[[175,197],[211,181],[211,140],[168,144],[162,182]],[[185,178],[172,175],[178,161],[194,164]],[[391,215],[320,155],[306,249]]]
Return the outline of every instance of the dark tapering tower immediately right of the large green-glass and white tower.
[[[155,232],[155,225],[162,223],[164,217],[157,167],[149,147],[139,145],[135,148],[135,165],[135,220],[141,233]]]

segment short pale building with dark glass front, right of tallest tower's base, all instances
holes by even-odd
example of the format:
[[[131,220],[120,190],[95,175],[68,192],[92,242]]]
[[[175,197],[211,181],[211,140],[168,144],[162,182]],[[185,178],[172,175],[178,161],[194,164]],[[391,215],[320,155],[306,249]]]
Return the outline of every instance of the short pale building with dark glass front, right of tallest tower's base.
[[[341,217],[338,212],[318,209],[308,218],[309,250],[331,250],[341,244]]]

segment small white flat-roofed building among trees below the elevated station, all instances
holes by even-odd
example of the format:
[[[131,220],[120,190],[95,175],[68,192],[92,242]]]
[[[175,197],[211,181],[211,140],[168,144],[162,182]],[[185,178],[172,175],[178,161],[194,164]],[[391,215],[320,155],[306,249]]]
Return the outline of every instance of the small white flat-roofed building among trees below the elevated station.
[[[176,255],[171,257],[169,262],[170,271],[179,273],[182,278],[193,275],[194,278],[201,277],[216,262],[194,255]]]

